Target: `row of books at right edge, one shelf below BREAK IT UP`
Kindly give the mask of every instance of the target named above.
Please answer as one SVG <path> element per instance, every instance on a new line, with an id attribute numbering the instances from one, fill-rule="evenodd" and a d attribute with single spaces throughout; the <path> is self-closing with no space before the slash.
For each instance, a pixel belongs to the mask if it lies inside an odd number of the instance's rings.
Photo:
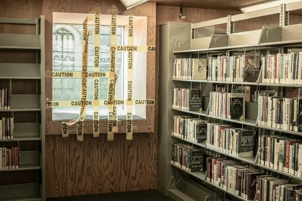
<path id="1" fill-rule="evenodd" d="M 279 135 L 263 135 L 258 140 L 258 163 L 302 177 L 302 140 Z"/>

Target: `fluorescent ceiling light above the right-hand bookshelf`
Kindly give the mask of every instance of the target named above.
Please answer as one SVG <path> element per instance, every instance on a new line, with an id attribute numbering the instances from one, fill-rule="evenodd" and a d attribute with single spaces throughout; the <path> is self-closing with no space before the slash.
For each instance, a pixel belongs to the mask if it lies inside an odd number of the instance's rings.
<path id="1" fill-rule="evenodd" d="M 302 0 L 271 0 L 263 3 L 257 3 L 257 4 L 252 4 L 252 5 L 247 5 L 240 7 L 239 9 L 243 13 L 248 13 L 252 11 L 259 11 L 265 8 L 273 8 L 276 6 L 280 6 L 280 4 L 290 4 L 294 2 L 301 2 Z"/>

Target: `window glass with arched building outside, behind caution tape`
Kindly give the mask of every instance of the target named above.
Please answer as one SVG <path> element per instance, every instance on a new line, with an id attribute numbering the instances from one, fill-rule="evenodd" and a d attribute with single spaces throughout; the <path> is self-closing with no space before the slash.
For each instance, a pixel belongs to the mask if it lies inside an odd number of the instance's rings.
<path id="1" fill-rule="evenodd" d="M 89 25 L 89 30 L 94 26 Z M 117 28 L 117 45 L 124 45 L 124 26 Z M 89 37 L 88 71 L 93 71 L 94 35 Z M 100 71 L 109 71 L 110 26 L 101 26 Z M 116 54 L 117 99 L 124 97 L 124 53 Z M 53 25 L 53 71 L 81 71 L 82 69 L 82 25 Z M 88 99 L 93 99 L 93 78 L 88 78 Z M 80 100 L 80 78 L 53 79 L 53 100 Z M 100 78 L 100 99 L 107 99 L 108 78 Z M 79 114 L 79 107 L 53 108 L 53 120 L 73 119 L 70 113 Z M 86 119 L 92 119 L 93 107 L 87 108 Z M 118 114 L 125 115 L 126 107 L 118 106 Z M 100 106 L 100 115 L 107 116 L 106 106 Z M 77 118 L 77 117 L 76 117 Z"/>

